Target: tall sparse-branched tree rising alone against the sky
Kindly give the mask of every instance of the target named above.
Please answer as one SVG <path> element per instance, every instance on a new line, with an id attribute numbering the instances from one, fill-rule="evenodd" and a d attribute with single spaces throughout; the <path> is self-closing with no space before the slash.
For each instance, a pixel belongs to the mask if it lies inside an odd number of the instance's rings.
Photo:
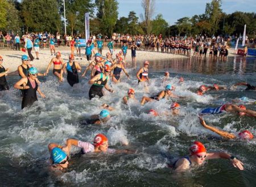
<path id="1" fill-rule="evenodd" d="M 150 35 L 152 29 L 151 19 L 155 11 L 155 0 L 142 0 L 141 5 L 144 10 L 144 14 L 141 14 L 141 18 L 145 23 L 147 35 Z"/>

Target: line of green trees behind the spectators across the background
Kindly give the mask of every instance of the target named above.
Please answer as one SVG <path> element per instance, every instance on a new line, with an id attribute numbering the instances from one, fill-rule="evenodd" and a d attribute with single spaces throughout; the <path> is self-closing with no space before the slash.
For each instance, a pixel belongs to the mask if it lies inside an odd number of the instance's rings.
<path id="1" fill-rule="evenodd" d="M 51 32 L 64 33 L 63 0 L 1 0 L 0 30 L 3 32 Z M 255 12 L 226 14 L 220 0 L 206 3 L 204 14 L 184 17 L 169 25 L 162 14 L 154 18 L 154 0 L 142 0 L 144 14 L 141 21 L 134 11 L 118 18 L 117 0 L 65 0 L 67 33 L 84 35 L 84 14 L 90 13 L 90 32 L 111 36 L 113 32 L 131 35 L 195 36 L 237 35 L 247 25 L 247 35 L 255 37 Z"/>

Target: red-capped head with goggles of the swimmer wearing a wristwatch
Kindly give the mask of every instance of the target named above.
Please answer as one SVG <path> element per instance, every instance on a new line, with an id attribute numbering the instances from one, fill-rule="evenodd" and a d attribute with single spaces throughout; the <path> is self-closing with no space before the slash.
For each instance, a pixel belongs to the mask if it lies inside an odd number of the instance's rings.
<path id="1" fill-rule="evenodd" d="M 193 142 L 193 145 L 189 148 L 191 154 L 191 159 L 197 164 L 203 164 L 206 156 L 207 150 L 201 142 Z"/>

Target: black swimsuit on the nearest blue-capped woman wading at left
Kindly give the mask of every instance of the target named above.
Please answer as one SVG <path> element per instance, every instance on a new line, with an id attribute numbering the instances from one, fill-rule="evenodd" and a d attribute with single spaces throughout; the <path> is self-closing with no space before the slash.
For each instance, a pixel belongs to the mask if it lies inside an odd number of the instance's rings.
<path id="1" fill-rule="evenodd" d="M 23 90 L 24 95 L 22 98 L 22 109 L 24 107 L 31 106 L 35 101 L 38 100 L 38 97 L 36 96 L 36 91 L 38 90 L 38 83 L 36 83 L 36 81 L 35 81 L 35 88 L 33 88 L 30 83 L 30 79 L 28 79 L 26 86 L 29 86 L 30 88 Z"/>

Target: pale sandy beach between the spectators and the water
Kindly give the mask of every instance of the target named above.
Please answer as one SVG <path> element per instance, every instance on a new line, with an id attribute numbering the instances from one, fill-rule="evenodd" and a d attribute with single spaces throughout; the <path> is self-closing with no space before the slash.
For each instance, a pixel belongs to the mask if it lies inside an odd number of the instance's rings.
<path id="1" fill-rule="evenodd" d="M 113 57 L 116 53 L 119 52 L 119 50 L 121 49 L 115 49 Z M 68 56 L 69 54 L 71 54 L 71 50 L 68 47 L 59 47 L 56 48 L 56 52 L 59 51 L 61 53 L 61 57 L 64 59 L 65 62 L 68 61 Z M 97 51 L 96 51 L 97 52 Z M 102 54 L 106 54 L 107 52 L 109 52 L 108 49 L 104 49 L 102 51 Z M 85 53 L 85 49 L 83 48 L 81 50 L 81 54 Z M 17 50 L 6 50 L 6 49 L 2 49 L 0 50 L 0 55 L 3 57 L 3 66 L 5 68 L 9 68 L 10 72 L 17 70 L 17 67 L 21 64 L 21 56 L 23 54 L 26 54 L 25 52 L 22 51 L 17 51 Z M 33 56 L 35 57 L 35 51 L 32 51 Z M 76 54 L 76 51 L 75 51 Z M 193 54 L 193 52 L 191 52 L 191 54 Z M 209 55 L 209 52 L 208 52 Z M 229 57 L 233 57 L 233 56 L 237 56 L 237 54 L 234 54 L 234 49 L 229 49 Z M 40 72 L 44 72 L 48 66 L 48 63 L 51 61 L 51 59 L 54 56 L 51 56 L 51 52 L 49 49 L 40 49 L 39 51 L 39 59 L 34 59 L 34 61 L 32 61 L 32 65 L 37 67 L 39 69 Z M 84 55 L 82 55 L 82 59 L 80 59 L 80 57 L 75 57 L 76 58 L 76 62 L 79 62 L 80 65 L 82 67 L 84 66 L 88 66 L 88 61 L 86 60 L 86 57 L 84 57 Z M 127 56 L 126 56 L 126 61 L 128 63 L 131 63 L 131 51 L 130 49 L 127 50 Z M 188 56 L 184 56 L 184 55 L 176 55 L 176 54 L 171 54 L 171 53 L 160 53 L 160 52 L 148 52 L 148 51 L 142 51 L 142 50 L 137 50 L 137 62 L 142 62 L 145 60 L 148 61 L 154 61 L 154 60 L 166 60 L 166 59 L 172 59 L 172 58 L 189 58 Z M 53 66 L 51 67 L 51 69 L 53 68 Z"/>

